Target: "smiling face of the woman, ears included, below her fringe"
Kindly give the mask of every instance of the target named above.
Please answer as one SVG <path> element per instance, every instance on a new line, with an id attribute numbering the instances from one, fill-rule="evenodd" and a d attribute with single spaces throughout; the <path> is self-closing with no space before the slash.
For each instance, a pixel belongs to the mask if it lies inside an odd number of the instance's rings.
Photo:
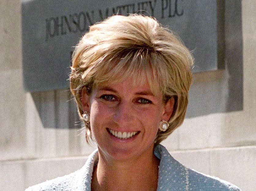
<path id="1" fill-rule="evenodd" d="M 163 103 L 148 83 L 133 86 L 132 79 L 98 86 L 90 96 L 82 91 L 84 111 L 90 112 L 92 134 L 108 159 L 127 160 L 152 155 L 162 119 L 168 121 L 173 103 Z"/>

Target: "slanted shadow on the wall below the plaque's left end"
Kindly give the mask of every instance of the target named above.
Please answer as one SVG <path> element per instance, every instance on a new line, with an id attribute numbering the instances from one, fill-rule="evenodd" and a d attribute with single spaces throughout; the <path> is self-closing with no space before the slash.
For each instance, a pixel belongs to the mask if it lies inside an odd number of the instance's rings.
<path id="1" fill-rule="evenodd" d="M 77 107 L 70 90 L 31 93 L 45 128 L 81 128 Z"/>

